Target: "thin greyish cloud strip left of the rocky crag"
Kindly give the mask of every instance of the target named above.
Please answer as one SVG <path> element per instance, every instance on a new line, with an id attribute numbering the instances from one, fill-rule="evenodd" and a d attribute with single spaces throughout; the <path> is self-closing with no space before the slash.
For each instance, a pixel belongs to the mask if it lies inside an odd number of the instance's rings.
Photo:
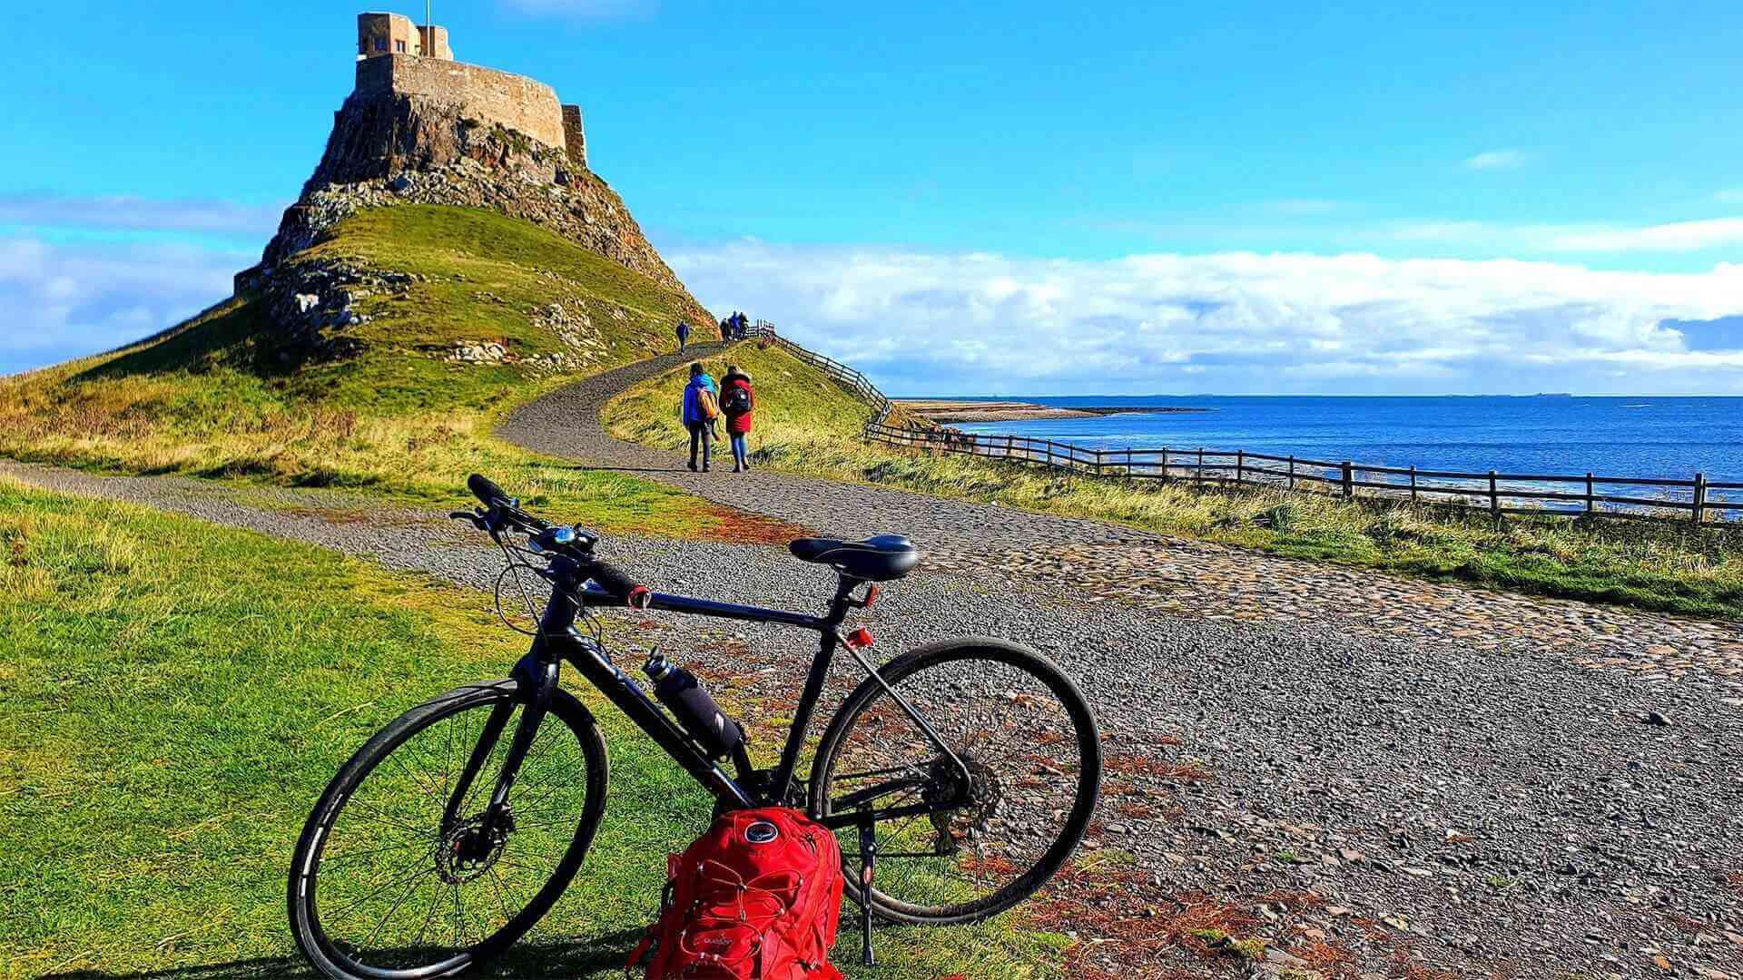
<path id="1" fill-rule="evenodd" d="M 0 195 L 0 225 L 143 232 L 216 232 L 267 237 L 282 204 L 155 201 L 148 197 Z"/>

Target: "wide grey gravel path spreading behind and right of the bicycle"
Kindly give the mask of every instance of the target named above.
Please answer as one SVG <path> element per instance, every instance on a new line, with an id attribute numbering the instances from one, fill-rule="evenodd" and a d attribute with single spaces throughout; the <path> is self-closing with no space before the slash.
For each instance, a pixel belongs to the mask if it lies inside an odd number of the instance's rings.
<path id="1" fill-rule="evenodd" d="M 537 403 L 509 434 L 594 464 L 664 471 L 655 476 L 810 527 L 898 528 L 953 556 L 957 570 L 922 565 L 870 610 L 877 649 L 889 656 L 943 635 L 997 635 L 1039 647 L 1081 680 L 1110 753 L 1088 847 L 1136 856 L 1136 888 L 1121 895 L 1142 909 L 1133 915 L 1156 915 L 1161 929 L 1171 910 L 1213 903 L 1251 921 L 1243 936 L 1351 977 L 1743 975 L 1736 678 L 1689 670 L 1672 684 L 1591 670 L 1530 643 L 1502 650 L 1448 635 L 1387 635 L 1360 609 L 1218 621 L 1129 605 L 1096 588 L 1049 595 L 1041 588 L 1055 579 L 1039 572 L 960 563 L 966 555 L 981 561 L 988 549 L 971 546 L 1006 534 L 976 523 L 987 507 L 765 473 L 692 478 L 671 471 L 669 453 L 589 443 L 596 415 L 577 413 L 661 366 L 636 364 Z M 573 441 L 551 438 L 554 427 Z M 354 520 L 364 502 L 343 495 L 3 462 L 0 473 L 478 588 L 500 567 L 476 532 L 439 514 Z M 1020 527 L 1011 534 L 1035 535 L 1021 541 L 1053 532 L 1063 537 L 1048 541 L 1068 541 L 1063 527 L 1088 523 L 1000 516 Z M 1128 530 L 1091 527 L 1131 541 Z M 1159 544 L 1168 542 L 1143 546 Z M 819 609 L 830 589 L 826 572 L 777 548 L 621 535 L 605 549 L 673 591 Z M 1021 551 L 1007 544 L 1004 555 Z M 762 626 L 675 626 L 638 642 L 688 650 L 734 703 L 791 696 L 797 664 L 810 654 L 804 636 Z M 852 677 L 842 668 L 837 680 L 840 691 Z M 767 738 L 758 745 L 770 748 Z M 1095 945 L 1089 959 L 1126 963 L 1129 977 L 1300 966 L 1196 959 L 1194 942 L 1175 940 L 1161 952 L 1145 947 L 1138 968 L 1129 966 L 1135 940 Z"/>

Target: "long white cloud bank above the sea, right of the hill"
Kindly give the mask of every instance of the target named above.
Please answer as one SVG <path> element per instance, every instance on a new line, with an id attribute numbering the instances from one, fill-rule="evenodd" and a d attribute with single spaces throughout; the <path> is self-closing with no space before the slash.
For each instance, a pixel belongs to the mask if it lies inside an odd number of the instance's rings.
<path id="1" fill-rule="evenodd" d="M 1743 391 L 1743 350 L 1691 350 L 1663 324 L 1743 312 L 1736 263 L 1075 262 L 760 242 L 668 258 L 704 302 L 769 317 L 899 392 Z M 1605 373 L 1618 364 L 1633 371 Z"/>

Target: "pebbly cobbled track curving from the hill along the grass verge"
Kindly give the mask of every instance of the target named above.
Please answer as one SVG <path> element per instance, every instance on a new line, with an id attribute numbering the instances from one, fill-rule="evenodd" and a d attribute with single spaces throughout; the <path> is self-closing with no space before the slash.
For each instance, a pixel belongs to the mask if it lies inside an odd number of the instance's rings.
<path id="1" fill-rule="evenodd" d="M 690 473 L 680 453 L 624 443 L 605 431 L 600 412 L 607 401 L 688 359 L 694 354 L 668 354 L 587 378 L 525 406 L 500 434 L 587 466 L 640 471 L 699 497 L 824 534 L 901 532 L 939 570 L 997 572 L 1035 588 L 1187 617 L 1337 616 L 1370 636 L 1455 642 L 1480 650 L 1556 650 L 1645 680 L 1708 671 L 1734 682 L 1743 698 L 1743 624 L 1424 582 L 887 487 L 765 471 L 736 474 L 730 466 Z"/>

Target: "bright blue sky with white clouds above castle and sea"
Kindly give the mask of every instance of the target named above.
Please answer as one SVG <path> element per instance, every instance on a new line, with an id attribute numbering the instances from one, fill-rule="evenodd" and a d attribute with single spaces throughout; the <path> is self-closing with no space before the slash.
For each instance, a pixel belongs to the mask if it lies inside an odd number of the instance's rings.
<path id="1" fill-rule="evenodd" d="M 582 105 L 704 303 L 894 391 L 1743 394 L 1743 7 L 1312 7 L 436 21 Z M 0 371 L 223 296 L 357 10 L 0 3 Z"/>

